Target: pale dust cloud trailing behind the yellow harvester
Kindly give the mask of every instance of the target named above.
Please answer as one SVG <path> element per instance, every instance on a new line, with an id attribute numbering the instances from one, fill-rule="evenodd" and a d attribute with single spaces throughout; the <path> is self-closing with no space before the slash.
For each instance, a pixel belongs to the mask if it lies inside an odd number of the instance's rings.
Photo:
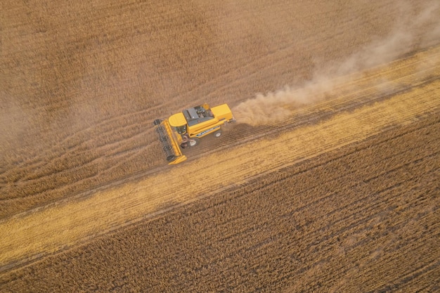
<path id="1" fill-rule="evenodd" d="M 252 126 L 283 121 L 291 115 L 287 108 L 297 108 L 323 100 L 326 93 L 335 88 L 336 77 L 344 77 L 345 82 L 349 82 L 350 73 L 361 72 L 388 63 L 406 53 L 438 44 L 440 2 L 427 2 L 420 13 L 414 13 L 414 9 L 402 1 L 396 7 L 398 20 L 388 37 L 372 41 L 342 63 L 316 68 L 309 82 L 299 86 L 285 86 L 284 89 L 266 94 L 259 93 L 255 98 L 240 103 L 233 108 L 235 119 L 238 123 Z M 338 82 L 341 80 L 339 78 Z"/>

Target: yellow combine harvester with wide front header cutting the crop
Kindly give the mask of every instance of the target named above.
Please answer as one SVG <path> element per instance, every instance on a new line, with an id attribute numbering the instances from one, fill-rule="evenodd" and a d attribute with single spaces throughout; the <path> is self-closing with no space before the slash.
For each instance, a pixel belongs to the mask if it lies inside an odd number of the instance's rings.
<path id="1" fill-rule="evenodd" d="M 183 110 L 168 119 L 156 119 L 153 124 L 168 164 L 179 164 L 186 160 L 181 149 L 198 145 L 199 138 L 208 134 L 221 136 L 221 126 L 234 121 L 228 105 L 210 108 L 208 104 L 203 104 Z"/>

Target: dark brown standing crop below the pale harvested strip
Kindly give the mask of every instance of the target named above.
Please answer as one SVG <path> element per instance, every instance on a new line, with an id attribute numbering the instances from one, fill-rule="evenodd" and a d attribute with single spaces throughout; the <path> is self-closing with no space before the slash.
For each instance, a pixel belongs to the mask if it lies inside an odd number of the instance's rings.
<path id="1" fill-rule="evenodd" d="M 280 169 L 5 273 L 0 288 L 432 292 L 439 124 L 430 117 Z"/>

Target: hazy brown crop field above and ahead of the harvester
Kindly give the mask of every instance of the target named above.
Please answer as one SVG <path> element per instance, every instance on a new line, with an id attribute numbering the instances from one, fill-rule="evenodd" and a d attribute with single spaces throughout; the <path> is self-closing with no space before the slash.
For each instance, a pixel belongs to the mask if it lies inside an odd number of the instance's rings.
<path id="1" fill-rule="evenodd" d="M 398 3 L 6 1 L 0 219 L 160 166 L 153 119 L 302 84 Z"/>

